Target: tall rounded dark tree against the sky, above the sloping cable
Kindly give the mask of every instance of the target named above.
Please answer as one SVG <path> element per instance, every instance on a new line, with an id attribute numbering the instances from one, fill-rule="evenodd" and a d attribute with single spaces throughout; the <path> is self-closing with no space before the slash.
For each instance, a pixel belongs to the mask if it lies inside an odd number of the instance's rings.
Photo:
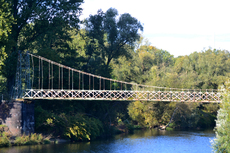
<path id="1" fill-rule="evenodd" d="M 117 10 L 110 8 L 105 13 L 99 10 L 85 21 L 87 36 L 91 39 L 88 58 L 99 55 L 106 71 L 112 59 L 128 56 L 127 46 L 134 47 L 135 41 L 140 38 L 138 32 L 143 31 L 141 23 L 130 14 L 117 17 Z"/>

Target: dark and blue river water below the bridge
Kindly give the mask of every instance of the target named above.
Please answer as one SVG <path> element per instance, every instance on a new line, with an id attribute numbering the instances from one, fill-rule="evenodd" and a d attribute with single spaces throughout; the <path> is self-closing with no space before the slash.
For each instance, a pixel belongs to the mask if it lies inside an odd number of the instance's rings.
<path id="1" fill-rule="evenodd" d="M 137 130 L 106 140 L 1 148 L 1 153 L 210 153 L 213 130 Z"/>

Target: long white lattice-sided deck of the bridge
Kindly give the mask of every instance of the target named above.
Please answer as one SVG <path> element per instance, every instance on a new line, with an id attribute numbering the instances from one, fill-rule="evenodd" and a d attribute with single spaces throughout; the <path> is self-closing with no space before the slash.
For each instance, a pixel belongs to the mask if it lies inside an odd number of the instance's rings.
<path id="1" fill-rule="evenodd" d="M 23 99 L 221 102 L 219 92 L 31 89 Z"/>

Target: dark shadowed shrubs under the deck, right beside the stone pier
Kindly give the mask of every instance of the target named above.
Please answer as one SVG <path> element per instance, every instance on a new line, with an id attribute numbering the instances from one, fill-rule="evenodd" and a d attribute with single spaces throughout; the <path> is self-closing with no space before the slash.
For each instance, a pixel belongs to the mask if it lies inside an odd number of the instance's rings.
<path id="1" fill-rule="evenodd" d="M 71 141 L 89 141 L 117 133 L 117 118 L 128 125 L 127 105 L 117 101 L 35 102 L 35 131 Z"/>

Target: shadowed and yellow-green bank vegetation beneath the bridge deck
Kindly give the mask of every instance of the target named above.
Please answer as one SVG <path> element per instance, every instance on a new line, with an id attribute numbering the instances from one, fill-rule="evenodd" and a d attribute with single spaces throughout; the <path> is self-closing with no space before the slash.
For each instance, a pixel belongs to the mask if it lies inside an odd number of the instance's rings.
<path id="1" fill-rule="evenodd" d="M 6 136 L 2 142 L 3 146 L 43 144 L 47 138 L 44 136 L 48 135 L 53 143 L 58 140 L 89 142 L 133 133 L 135 129 L 206 129 L 215 126 L 217 109 L 218 104 L 200 103 L 38 100 L 35 132 L 43 135 L 43 141 L 30 141 L 30 137 L 24 136 L 17 138 L 21 143 L 9 144 L 16 139 Z"/>

